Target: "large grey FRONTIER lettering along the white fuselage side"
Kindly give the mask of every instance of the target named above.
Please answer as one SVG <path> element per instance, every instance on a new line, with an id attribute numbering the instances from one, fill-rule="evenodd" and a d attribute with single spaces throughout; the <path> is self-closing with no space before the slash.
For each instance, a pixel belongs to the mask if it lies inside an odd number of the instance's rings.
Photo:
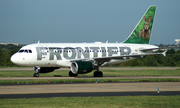
<path id="1" fill-rule="evenodd" d="M 49 60 L 62 60 L 62 57 L 70 59 L 81 59 L 92 57 L 111 57 L 113 55 L 129 55 L 131 53 L 130 47 L 36 47 L 37 60 L 42 60 L 49 55 Z"/>

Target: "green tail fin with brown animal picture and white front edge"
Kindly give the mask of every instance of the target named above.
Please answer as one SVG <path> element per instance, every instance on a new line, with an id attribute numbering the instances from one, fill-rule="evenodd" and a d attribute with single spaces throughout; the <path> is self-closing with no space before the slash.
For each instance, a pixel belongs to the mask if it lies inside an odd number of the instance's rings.
<path id="1" fill-rule="evenodd" d="M 149 44 L 156 6 L 150 6 L 123 43 Z"/>

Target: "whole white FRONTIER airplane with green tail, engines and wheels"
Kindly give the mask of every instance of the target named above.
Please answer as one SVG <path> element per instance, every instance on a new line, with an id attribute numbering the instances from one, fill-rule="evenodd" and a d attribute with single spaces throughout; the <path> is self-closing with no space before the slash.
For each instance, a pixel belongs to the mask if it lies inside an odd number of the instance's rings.
<path id="1" fill-rule="evenodd" d="M 126 62 L 157 53 L 158 46 L 150 45 L 156 6 L 149 6 L 129 37 L 121 43 L 34 43 L 12 55 L 17 65 L 34 67 L 34 77 L 62 67 L 70 68 L 69 76 L 96 70 L 94 77 L 103 77 L 100 66 Z"/>

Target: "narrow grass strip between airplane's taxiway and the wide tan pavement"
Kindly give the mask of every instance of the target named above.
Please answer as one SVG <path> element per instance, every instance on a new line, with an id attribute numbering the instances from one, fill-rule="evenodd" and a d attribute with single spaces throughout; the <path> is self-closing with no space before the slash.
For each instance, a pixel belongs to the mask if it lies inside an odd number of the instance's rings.
<path id="1" fill-rule="evenodd" d="M 55 83 L 95 83 L 96 79 L 58 79 L 58 80 L 1 80 L 0 84 L 55 84 Z M 180 79 L 97 79 L 97 83 L 118 82 L 180 82 Z"/>

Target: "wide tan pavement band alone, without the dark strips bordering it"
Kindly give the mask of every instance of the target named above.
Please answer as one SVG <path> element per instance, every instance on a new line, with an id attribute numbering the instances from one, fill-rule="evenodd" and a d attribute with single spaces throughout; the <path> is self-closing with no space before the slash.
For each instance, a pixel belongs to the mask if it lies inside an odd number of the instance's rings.
<path id="1" fill-rule="evenodd" d="M 180 82 L 83 83 L 0 86 L 0 94 L 180 91 Z"/>

